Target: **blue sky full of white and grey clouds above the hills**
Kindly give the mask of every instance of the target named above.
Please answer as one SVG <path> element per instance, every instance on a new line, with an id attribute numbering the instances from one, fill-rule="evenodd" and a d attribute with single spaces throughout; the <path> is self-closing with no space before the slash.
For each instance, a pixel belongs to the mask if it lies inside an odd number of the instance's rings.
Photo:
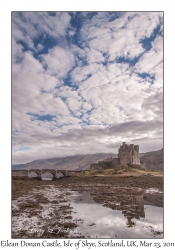
<path id="1" fill-rule="evenodd" d="M 163 12 L 12 12 L 12 163 L 163 147 Z"/>

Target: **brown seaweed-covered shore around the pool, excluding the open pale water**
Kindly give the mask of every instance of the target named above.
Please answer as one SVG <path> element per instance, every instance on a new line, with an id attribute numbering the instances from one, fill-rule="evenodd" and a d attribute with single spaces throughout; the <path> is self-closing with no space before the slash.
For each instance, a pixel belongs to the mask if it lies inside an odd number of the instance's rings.
<path id="1" fill-rule="evenodd" d="M 150 194 L 145 190 L 157 191 Z M 128 219 L 127 227 L 135 226 L 133 219 L 144 217 L 143 204 L 163 207 L 162 176 L 72 176 L 55 181 L 13 177 L 12 238 L 83 238 L 83 234 L 75 234 L 81 223 L 72 216 L 70 200 L 75 191 L 80 202 L 85 198 L 81 194 L 88 191 L 96 203 L 122 211 Z M 153 237 L 163 233 L 151 230 Z"/>

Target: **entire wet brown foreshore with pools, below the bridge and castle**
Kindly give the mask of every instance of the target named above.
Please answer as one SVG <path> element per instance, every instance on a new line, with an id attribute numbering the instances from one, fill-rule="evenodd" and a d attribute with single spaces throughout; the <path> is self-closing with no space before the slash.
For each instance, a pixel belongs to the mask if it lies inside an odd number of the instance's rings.
<path id="1" fill-rule="evenodd" d="M 163 177 L 12 179 L 12 238 L 163 238 Z"/>

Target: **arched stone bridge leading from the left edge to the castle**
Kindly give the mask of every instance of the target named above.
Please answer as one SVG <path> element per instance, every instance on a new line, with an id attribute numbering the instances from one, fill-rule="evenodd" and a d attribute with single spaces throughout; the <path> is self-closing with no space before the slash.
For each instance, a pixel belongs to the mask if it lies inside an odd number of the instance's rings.
<path id="1" fill-rule="evenodd" d="M 65 176 L 71 176 L 74 173 L 82 172 L 82 170 L 60 170 L 60 169 L 28 169 L 28 170 L 12 170 L 12 176 L 25 176 L 28 177 L 30 173 L 36 173 L 39 179 L 42 179 L 42 174 L 50 173 L 53 175 L 52 180 L 55 180 L 58 173 L 62 173 Z"/>

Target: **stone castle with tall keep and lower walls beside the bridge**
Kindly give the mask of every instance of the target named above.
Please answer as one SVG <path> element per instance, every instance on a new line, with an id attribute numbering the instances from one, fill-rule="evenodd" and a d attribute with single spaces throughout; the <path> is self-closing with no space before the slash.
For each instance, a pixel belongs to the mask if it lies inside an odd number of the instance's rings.
<path id="1" fill-rule="evenodd" d="M 134 144 L 126 144 L 120 146 L 118 150 L 118 158 L 107 158 L 98 163 L 90 164 L 91 170 L 103 170 L 105 168 L 114 168 L 115 170 L 121 169 L 122 167 L 133 167 L 142 169 L 142 163 L 140 162 L 139 146 Z"/>

